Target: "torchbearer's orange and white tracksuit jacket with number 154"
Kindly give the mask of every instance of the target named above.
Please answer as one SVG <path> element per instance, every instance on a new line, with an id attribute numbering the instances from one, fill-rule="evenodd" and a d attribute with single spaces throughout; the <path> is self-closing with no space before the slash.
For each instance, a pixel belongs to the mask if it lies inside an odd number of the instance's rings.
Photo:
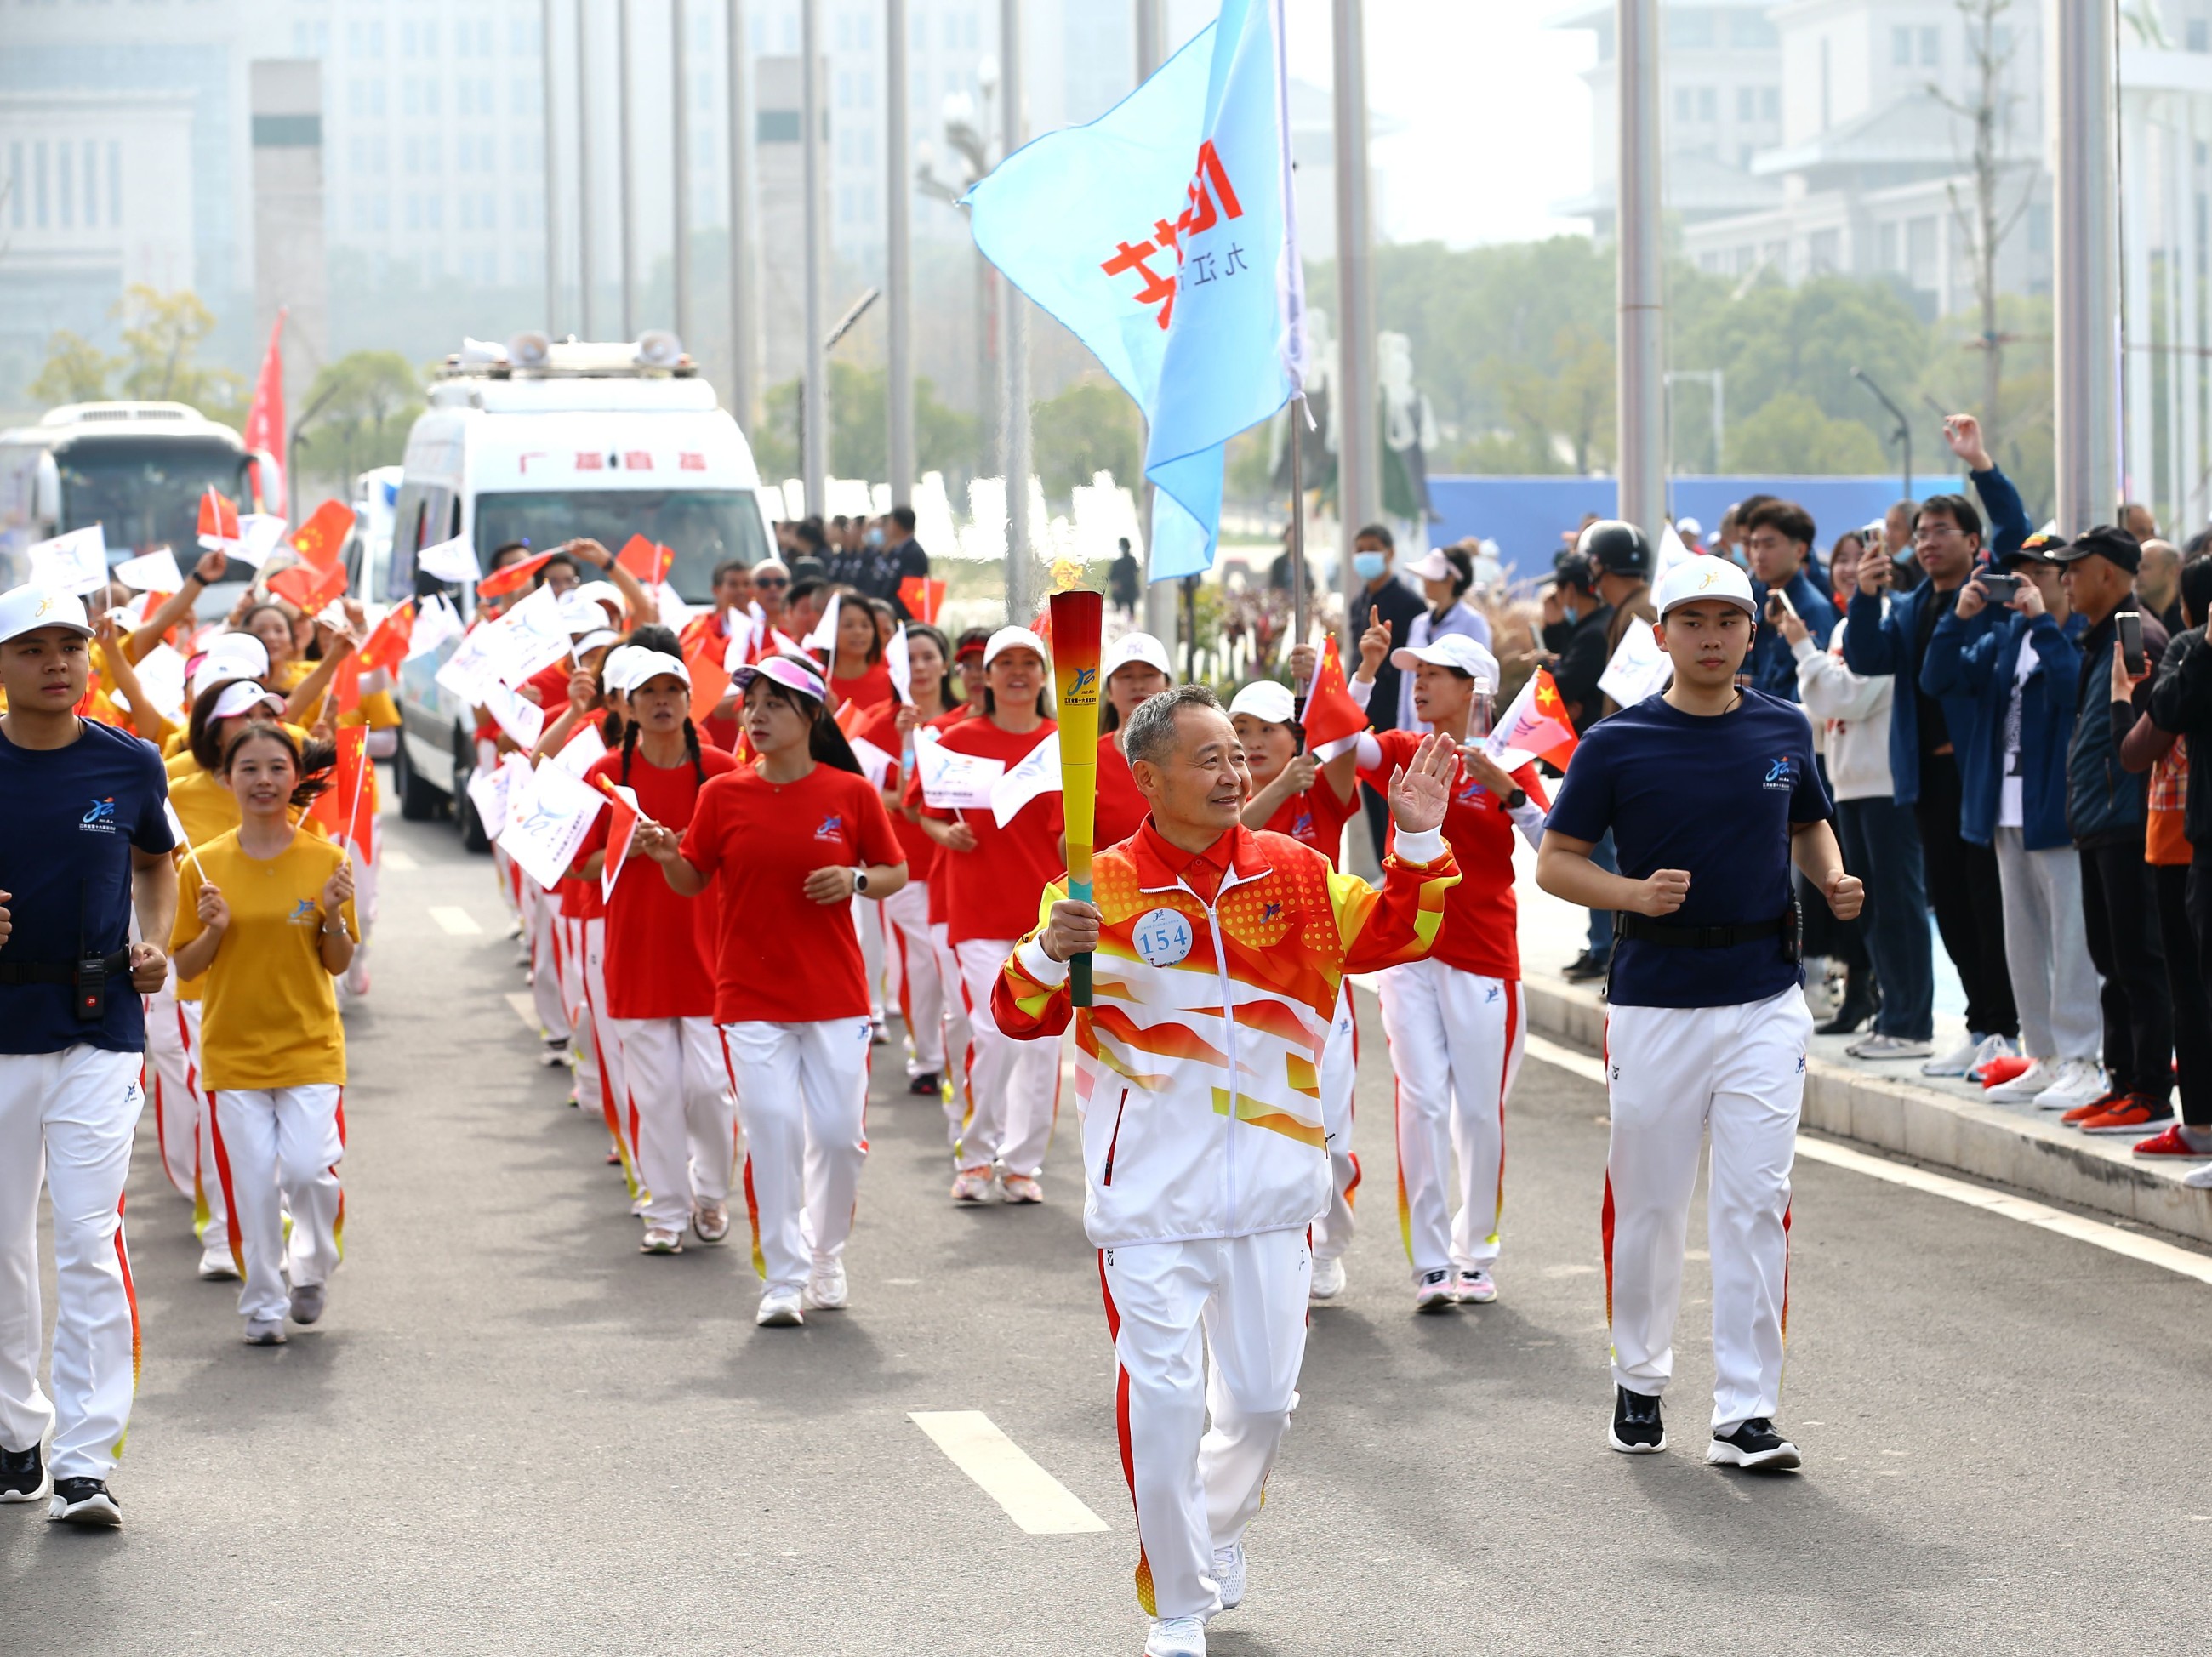
<path id="1" fill-rule="evenodd" d="M 1088 1009 L 1037 927 L 991 989 L 1000 1029 L 1057 1035 L 1075 1013 L 1084 1228 L 1097 1248 L 1305 1228 L 1327 1206 L 1321 1051 L 1349 971 L 1420 960 L 1460 878 L 1442 834 L 1398 838 L 1383 887 L 1287 834 L 1230 830 L 1208 905 L 1137 834 L 1097 854 L 1104 914 Z M 1433 852 L 1431 861 L 1409 861 Z"/>

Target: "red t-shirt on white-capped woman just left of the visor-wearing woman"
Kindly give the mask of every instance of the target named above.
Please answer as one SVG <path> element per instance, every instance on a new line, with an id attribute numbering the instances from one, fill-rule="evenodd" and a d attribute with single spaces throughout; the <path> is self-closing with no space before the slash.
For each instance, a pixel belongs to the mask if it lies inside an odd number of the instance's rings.
<path id="1" fill-rule="evenodd" d="M 737 770 L 719 748 L 701 746 L 699 761 L 708 781 Z M 593 761 L 584 779 L 593 777 L 622 783 L 622 750 Z M 628 788 L 646 816 L 672 830 L 692 821 L 701 794 L 690 759 L 664 770 L 648 765 L 644 754 L 630 754 Z M 611 819 L 599 812 L 577 863 L 606 850 Z M 719 931 L 717 918 L 712 887 L 686 898 L 668 885 L 659 863 L 626 858 L 606 905 L 606 1011 L 613 1018 L 708 1018 L 714 1011 L 708 942 Z"/>

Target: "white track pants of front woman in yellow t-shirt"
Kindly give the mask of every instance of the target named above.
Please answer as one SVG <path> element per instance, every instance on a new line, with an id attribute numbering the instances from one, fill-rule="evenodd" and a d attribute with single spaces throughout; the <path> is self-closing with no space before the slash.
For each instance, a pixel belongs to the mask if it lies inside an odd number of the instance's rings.
<path id="1" fill-rule="evenodd" d="M 345 1254 L 345 1088 L 221 1088 L 215 1106 L 215 1166 L 230 1199 L 230 1259 L 246 1279 L 239 1316 L 281 1319 L 292 1288 L 327 1283 Z M 283 1217 L 292 1215 L 285 1241 Z"/>

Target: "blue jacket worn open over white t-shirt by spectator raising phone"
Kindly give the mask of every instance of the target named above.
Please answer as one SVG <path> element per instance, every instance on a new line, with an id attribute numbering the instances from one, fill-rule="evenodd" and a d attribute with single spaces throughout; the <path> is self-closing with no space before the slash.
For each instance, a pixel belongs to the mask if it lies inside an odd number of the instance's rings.
<path id="1" fill-rule="evenodd" d="M 2004 626 L 1984 626 L 1969 642 L 1973 617 L 1947 615 L 1929 639 L 1920 664 L 1920 688 L 1931 697 L 1971 695 L 1978 701 L 1973 741 L 1958 743 L 1962 838 L 1989 845 L 1997 827 L 1997 796 L 2004 788 L 2004 708 L 2013 699 L 2013 670 L 2022 639 L 2042 661 L 2020 692 L 2020 834 L 2031 852 L 2073 845 L 2066 832 L 2066 746 L 2073 737 L 2075 692 L 2081 684 L 2081 637 L 2086 622 L 2068 615 L 2059 626 L 2048 615 L 2033 622 L 2006 613 Z"/>

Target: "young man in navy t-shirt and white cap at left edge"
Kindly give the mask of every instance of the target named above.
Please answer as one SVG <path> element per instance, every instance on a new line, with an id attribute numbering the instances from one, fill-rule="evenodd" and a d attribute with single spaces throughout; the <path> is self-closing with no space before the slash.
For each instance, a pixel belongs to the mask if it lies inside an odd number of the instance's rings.
<path id="1" fill-rule="evenodd" d="M 177 916 L 161 757 L 75 715 L 84 604 L 0 593 L 0 1502 L 122 1524 L 108 1493 L 137 1387 L 122 1199 L 146 1020 Z M 139 936 L 131 942 L 131 914 Z M 53 1403 L 38 1387 L 38 1188 L 53 1199 Z"/>

